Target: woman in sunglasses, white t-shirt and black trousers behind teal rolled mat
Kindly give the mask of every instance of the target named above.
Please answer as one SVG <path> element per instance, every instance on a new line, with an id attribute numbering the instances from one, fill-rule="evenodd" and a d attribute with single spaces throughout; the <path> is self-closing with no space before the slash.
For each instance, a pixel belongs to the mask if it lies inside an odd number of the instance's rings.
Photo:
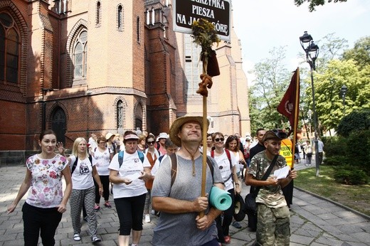
<path id="1" fill-rule="evenodd" d="M 226 191 L 230 193 L 231 199 L 235 200 L 235 194 L 240 193 L 240 184 L 238 182 L 238 175 L 236 174 L 236 159 L 228 149 L 223 148 L 223 141 L 225 138 L 221 132 L 216 132 L 212 135 L 213 146 L 215 149 L 211 151 L 211 156 L 218 164 L 221 171 L 223 183 L 225 184 Z M 234 183 L 236 184 L 234 187 Z M 232 204 L 233 204 L 232 203 Z M 229 235 L 229 227 L 233 220 L 234 208 L 230 206 L 227 210 L 223 211 L 223 220 L 221 215 L 216 218 L 216 226 L 218 231 L 218 242 L 230 243 L 231 237 Z"/>

